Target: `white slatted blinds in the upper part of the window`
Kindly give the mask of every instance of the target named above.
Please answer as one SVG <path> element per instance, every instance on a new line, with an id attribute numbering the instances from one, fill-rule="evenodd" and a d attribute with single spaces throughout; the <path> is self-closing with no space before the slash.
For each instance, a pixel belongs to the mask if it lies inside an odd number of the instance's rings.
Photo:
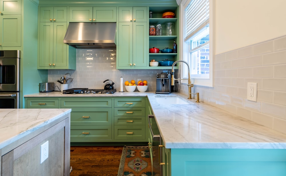
<path id="1" fill-rule="evenodd" d="M 185 9 L 186 34 L 189 39 L 194 33 L 205 27 L 210 18 L 209 0 L 192 0 Z"/>

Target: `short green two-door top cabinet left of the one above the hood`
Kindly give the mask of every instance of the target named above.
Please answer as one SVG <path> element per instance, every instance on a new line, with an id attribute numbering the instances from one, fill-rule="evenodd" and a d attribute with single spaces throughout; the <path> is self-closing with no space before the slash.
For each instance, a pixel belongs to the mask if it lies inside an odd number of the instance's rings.
<path id="1" fill-rule="evenodd" d="M 40 7 L 40 22 L 67 22 L 67 7 Z"/>

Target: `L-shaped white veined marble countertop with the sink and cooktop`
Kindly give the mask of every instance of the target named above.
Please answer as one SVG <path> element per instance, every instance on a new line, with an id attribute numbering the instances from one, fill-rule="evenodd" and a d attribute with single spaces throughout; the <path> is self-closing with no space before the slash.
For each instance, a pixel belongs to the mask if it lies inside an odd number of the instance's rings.
<path id="1" fill-rule="evenodd" d="M 286 134 L 258 125 L 186 95 L 154 92 L 116 92 L 112 95 L 35 93 L 24 97 L 147 96 L 166 148 L 286 149 Z M 186 104 L 160 103 L 156 97 L 177 96 Z"/>

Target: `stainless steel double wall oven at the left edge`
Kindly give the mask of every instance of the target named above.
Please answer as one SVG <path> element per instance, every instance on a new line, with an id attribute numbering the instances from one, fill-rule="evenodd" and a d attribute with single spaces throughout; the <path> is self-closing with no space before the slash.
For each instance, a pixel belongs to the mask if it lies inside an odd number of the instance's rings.
<path id="1" fill-rule="evenodd" d="M 19 108 L 19 50 L 0 50 L 0 108 Z"/>

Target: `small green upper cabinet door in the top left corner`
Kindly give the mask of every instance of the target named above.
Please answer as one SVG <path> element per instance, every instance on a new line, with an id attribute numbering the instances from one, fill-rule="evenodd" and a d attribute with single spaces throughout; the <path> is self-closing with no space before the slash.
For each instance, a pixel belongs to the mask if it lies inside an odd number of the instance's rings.
<path id="1" fill-rule="evenodd" d="M 21 15 L 21 0 L 0 0 L 1 15 Z"/>

